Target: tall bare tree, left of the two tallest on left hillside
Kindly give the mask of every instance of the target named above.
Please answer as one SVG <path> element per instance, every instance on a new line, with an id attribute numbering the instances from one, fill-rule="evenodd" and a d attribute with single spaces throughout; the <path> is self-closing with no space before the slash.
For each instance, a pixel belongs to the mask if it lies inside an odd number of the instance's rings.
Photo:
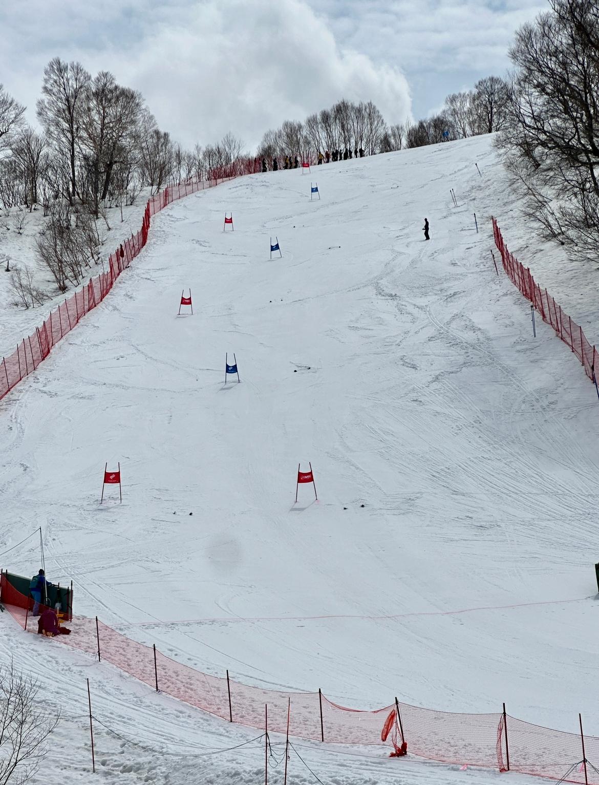
<path id="1" fill-rule="evenodd" d="M 39 122 L 58 155 L 68 162 L 71 204 L 77 195 L 76 152 L 89 80 L 89 73 L 81 63 L 67 64 L 54 57 L 44 69 L 44 97 L 37 104 Z"/>

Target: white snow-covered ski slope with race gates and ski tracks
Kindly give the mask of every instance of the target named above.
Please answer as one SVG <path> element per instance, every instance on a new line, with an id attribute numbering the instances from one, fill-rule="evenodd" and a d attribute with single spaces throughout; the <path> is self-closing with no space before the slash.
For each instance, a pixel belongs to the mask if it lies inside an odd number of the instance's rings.
<path id="1" fill-rule="evenodd" d="M 504 184 L 477 138 L 244 177 L 164 210 L 111 295 L 0 403 L 0 550 L 42 526 L 75 612 L 210 674 L 365 709 L 505 701 L 573 731 L 582 711 L 599 735 L 597 396 L 495 276 L 491 212 L 527 261 Z M 194 315 L 177 316 L 189 287 Z M 225 352 L 239 385 L 224 384 Z M 122 505 L 114 489 L 98 503 L 104 462 L 121 464 Z M 294 504 L 299 462 L 318 502 L 300 486 Z M 31 539 L 3 566 L 33 574 L 37 553 Z M 6 614 L 0 646 L 64 714 L 85 714 L 89 677 L 97 716 L 146 747 L 257 735 Z M 91 781 L 85 721 L 68 722 L 69 781 Z M 119 783 L 260 776 L 259 750 L 200 766 L 101 734 Z M 493 776 L 305 747 L 333 781 Z M 54 749 L 41 779 L 63 781 L 62 765 Z"/>

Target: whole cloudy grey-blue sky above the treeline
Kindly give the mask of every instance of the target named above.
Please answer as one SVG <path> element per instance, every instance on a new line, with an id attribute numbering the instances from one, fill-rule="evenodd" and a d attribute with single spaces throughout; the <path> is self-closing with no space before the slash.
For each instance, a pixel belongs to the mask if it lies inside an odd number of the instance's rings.
<path id="1" fill-rule="evenodd" d="M 140 89 L 191 146 L 262 133 L 345 97 L 388 122 L 509 66 L 513 32 L 546 0 L 0 0 L 0 82 L 35 122 L 52 57 Z"/>

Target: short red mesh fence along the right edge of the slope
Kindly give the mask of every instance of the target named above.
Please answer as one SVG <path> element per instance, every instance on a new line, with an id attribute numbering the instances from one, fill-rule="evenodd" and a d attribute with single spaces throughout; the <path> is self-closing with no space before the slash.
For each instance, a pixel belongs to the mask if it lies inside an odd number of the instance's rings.
<path id="1" fill-rule="evenodd" d="M 586 375 L 591 380 L 594 380 L 597 350 L 586 340 L 583 328 L 573 322 L 568 314 L 562 311 L 561 307 L 557 305 L 557 302 L 548 294 L 546 289 L 542 289 L 538 283 L 535 283 L 535 279 L 531 276 L 530 268 L 525 268 L 513 254 L 510 254 L 506 244 L 503 242 L 497 221 L 495 218 L 491 218 L 491 221 L 493 221 L 495 245 L 502 257 L 503 269 L 512 280 L 512 283 L 517 286 L 527 300 L 531 301 L 535 309 L 541 314 L 543 321 L 550 324 L 553 330 L 555 330 L 555 334 L 572 349 L 572 352 L 575 353 L 582 363 Z"/>

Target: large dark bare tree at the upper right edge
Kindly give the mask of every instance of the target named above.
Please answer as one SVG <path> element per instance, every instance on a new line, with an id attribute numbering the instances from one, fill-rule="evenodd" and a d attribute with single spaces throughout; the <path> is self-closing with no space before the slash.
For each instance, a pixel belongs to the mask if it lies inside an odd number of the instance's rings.
<path id="1" fill-rule="evenodd" d="M 510 115 L 499 144 L 527 210 L 572 254 L 599 257 L 599 8 L 551 0 L 517 32 Z"/>

